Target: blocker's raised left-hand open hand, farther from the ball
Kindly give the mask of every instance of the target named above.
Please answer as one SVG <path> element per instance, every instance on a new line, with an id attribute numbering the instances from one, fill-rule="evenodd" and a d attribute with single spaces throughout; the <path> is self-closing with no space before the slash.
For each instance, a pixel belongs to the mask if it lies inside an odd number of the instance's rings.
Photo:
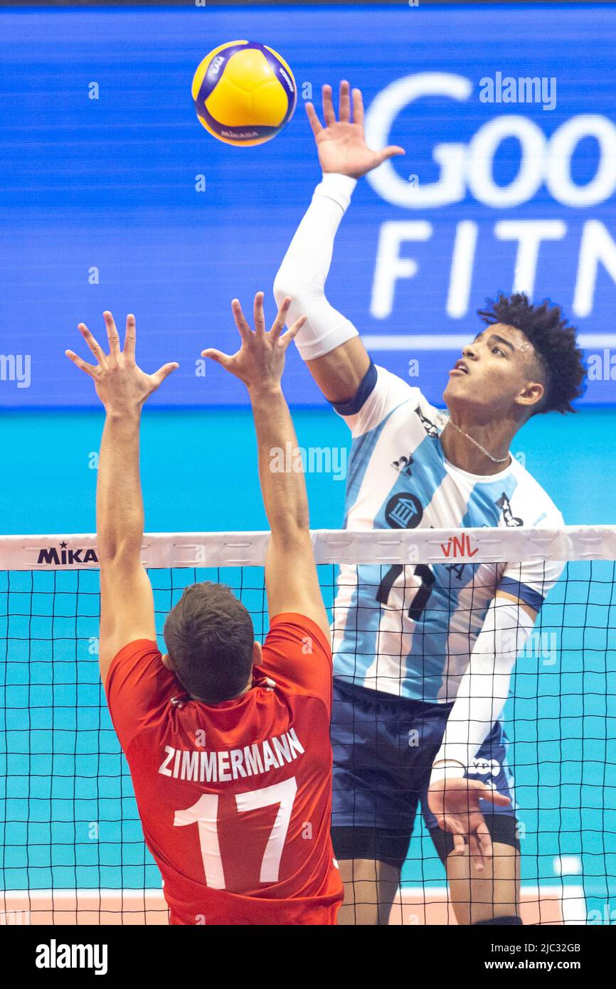
<path id="1" fill-rule="evenodd" d="M 179 367 L 179 364 L 175 362 L 163 364 L 154 374 L 146 374 L 141 371 L 134 360 L 136 339 L 134 316 L 132 314 L 127 316 L 124 350 L 120 348 L 120 334 L 113 315 L 106 312 L 103 313 L 103 317 L 109 340 L 108 354 L 105 353 L 84 322 L 80 322 L 77 326 L 98 364 L 88 364 L 72 350 L 65 350 L 64 353 L 73 364 L 76 364 L 78 368 L 81 368 L 92 378 L 96 394 L 108 411 L 110 409 L 122 412 L 132 411 L 143 405 L 152 392 L 155 392 L 162 385 L 165 378 L 168 378 L 171 372 Z"/>

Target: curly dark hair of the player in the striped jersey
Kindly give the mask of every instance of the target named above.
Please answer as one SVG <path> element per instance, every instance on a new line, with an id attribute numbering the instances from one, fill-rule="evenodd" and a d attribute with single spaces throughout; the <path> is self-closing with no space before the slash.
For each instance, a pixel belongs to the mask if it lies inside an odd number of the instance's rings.
<path id="1" fill-rule="evenodd" d="M 533 306 L 523 292 L 512 296 L 500 293 L 495 301 L 486 299 L 485 304 L 486 309 L 478 310 L 485 323 L 515 326 L 535 348 L 544 372 L 546 394 L 533 414 L 574 412 L 572 402 L 584 393 L 586 368 L 575 340 L 577 330 L 563 317 L 561 308 L 552 306 L 547 299 Z"/>

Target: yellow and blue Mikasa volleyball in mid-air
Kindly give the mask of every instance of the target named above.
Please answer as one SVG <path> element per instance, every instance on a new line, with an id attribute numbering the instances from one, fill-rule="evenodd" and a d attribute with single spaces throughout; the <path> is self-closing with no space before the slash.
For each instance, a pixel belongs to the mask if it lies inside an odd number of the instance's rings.
<path id="1" fill-rule="evenodd" d="M 293 117 L 298 91 L 282 55 L 258 42 L 227 42 L 200 62 L 193 101 L 209 134 L 239 147 L 264 144 Z"/>

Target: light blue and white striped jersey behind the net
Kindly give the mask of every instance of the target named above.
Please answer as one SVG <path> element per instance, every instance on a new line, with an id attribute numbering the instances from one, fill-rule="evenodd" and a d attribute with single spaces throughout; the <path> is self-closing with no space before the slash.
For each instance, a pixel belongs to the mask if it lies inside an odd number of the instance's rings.
<path id="1" fill-rule="evenodd" d="M 372 365 L 355 399 L 334 405 L 351 428 L 344 527 L 541 526 L 561 512 L 518 461 L 469 474 L 445 460 L 447 413 Z M 539 611 L 557 562 L 343 565 L 333 612 L 334 676 L 414 700 L 448 703 L 497 588 Z"/>

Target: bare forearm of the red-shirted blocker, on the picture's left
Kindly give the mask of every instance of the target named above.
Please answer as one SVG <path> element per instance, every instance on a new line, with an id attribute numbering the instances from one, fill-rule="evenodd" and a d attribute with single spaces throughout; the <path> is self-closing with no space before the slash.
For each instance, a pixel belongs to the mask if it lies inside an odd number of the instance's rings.
<path id="1" fill-rule="evenodd" d="M 107 412 L 96 489 L 99 561 L 140 551 L 143 499 L 139 477 L 140 409 Z"/>

